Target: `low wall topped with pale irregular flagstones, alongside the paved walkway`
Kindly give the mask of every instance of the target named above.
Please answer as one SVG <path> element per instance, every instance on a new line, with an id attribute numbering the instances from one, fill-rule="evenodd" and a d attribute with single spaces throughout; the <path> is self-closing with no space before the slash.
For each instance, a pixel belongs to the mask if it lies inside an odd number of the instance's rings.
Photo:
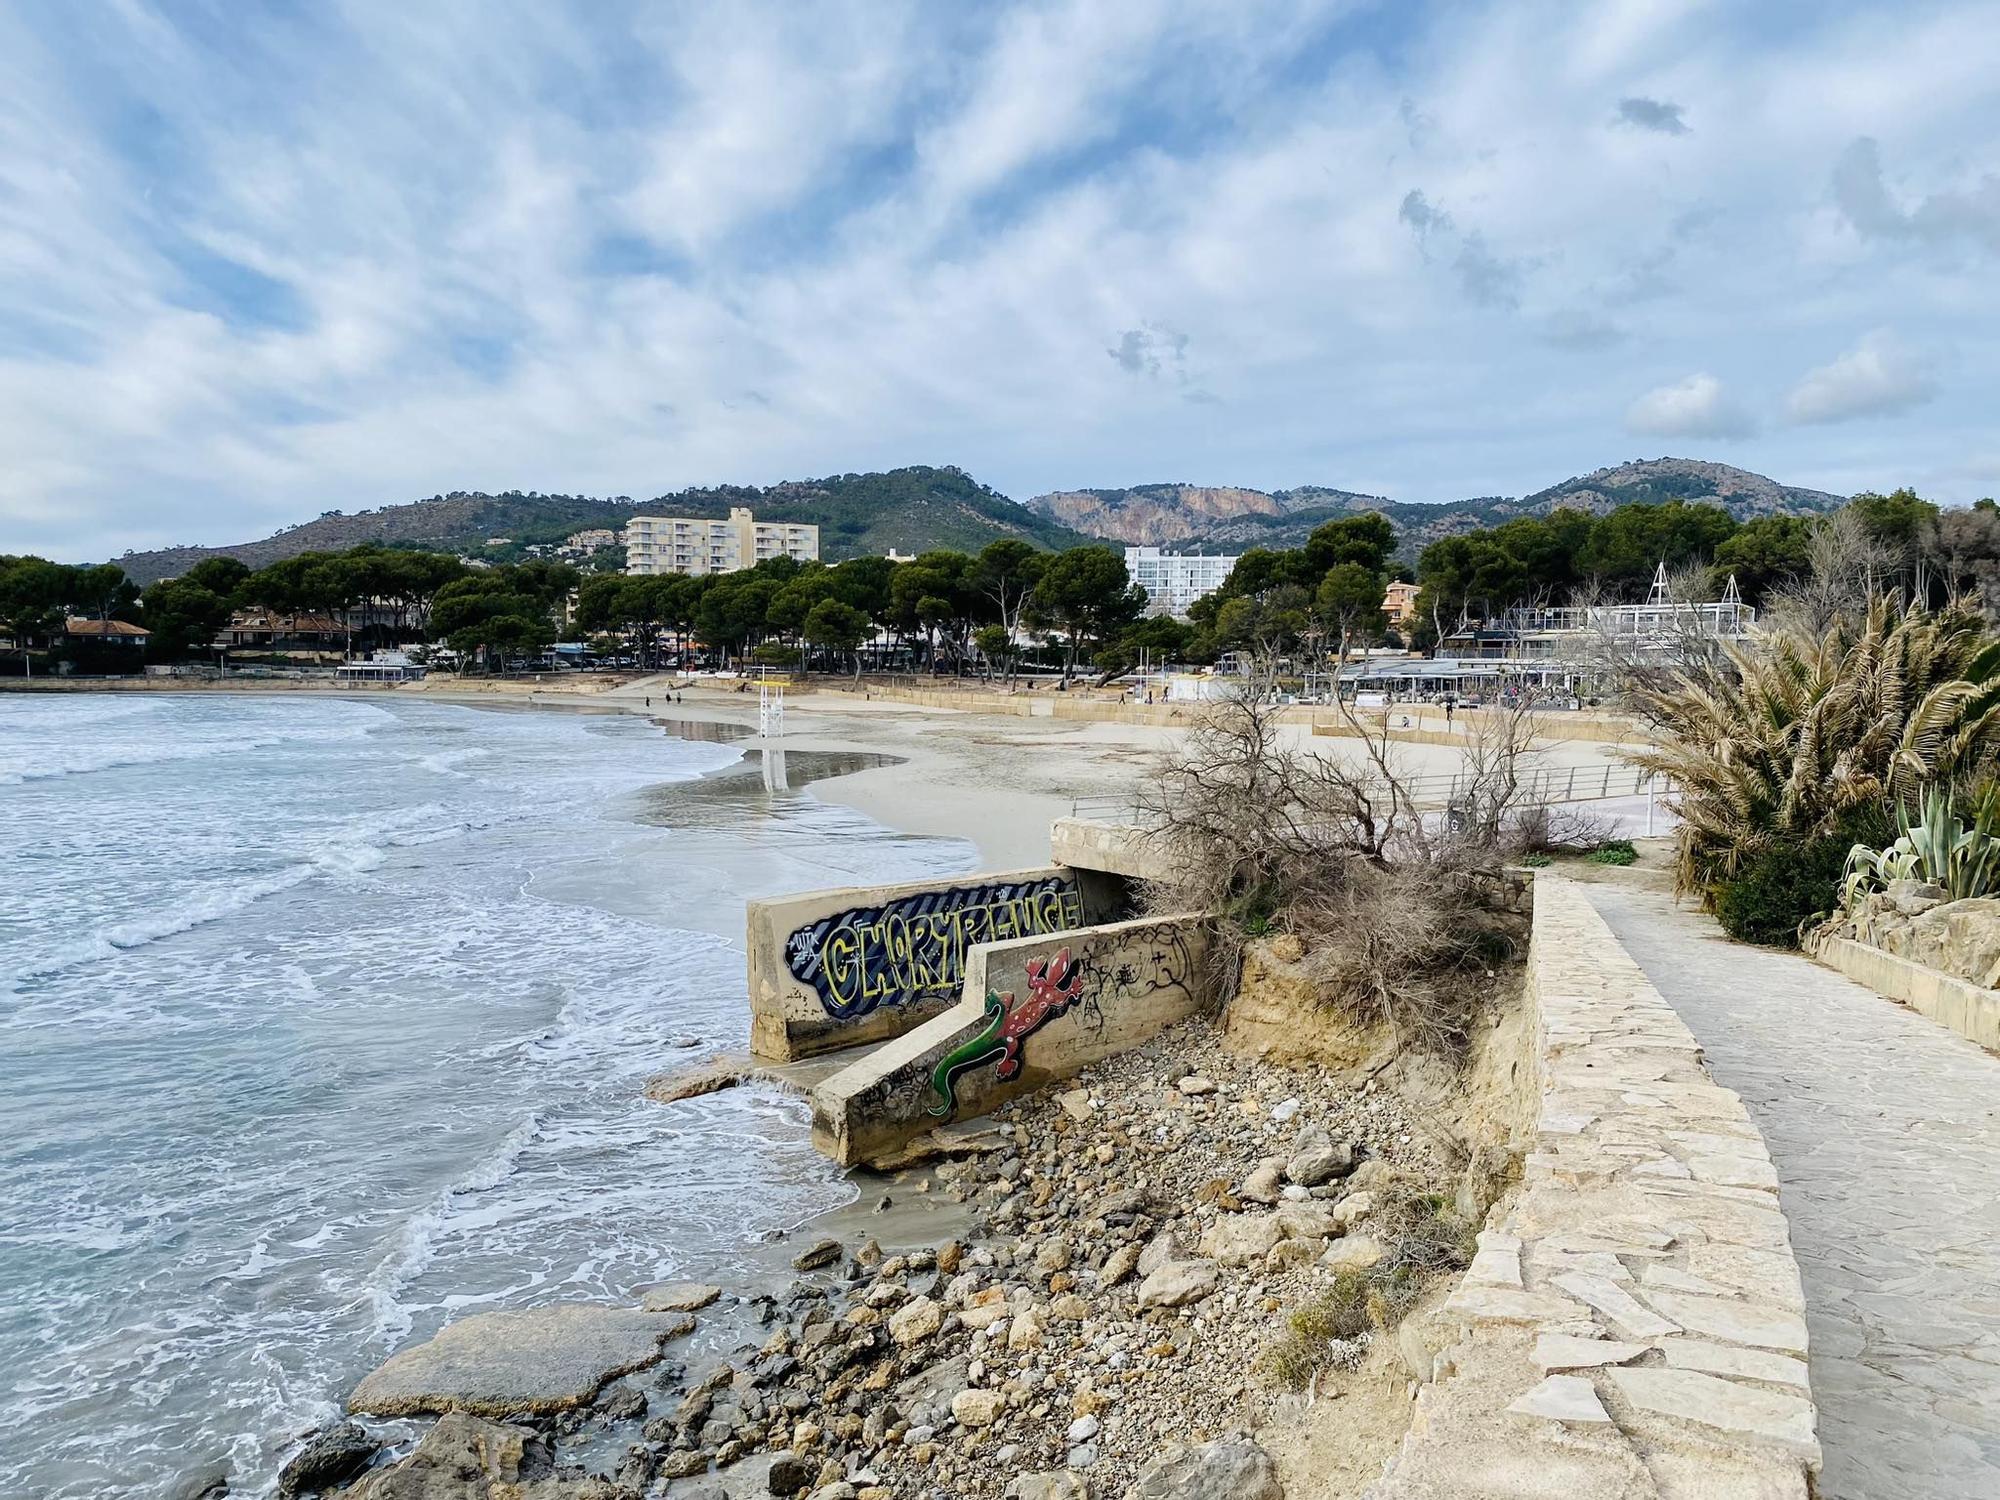
<path id="1" fill-rule="evenodd" d="M 1430 1380 L 1368 1494 L 1806 1500 L 1804 1296 L 1756 1126 L 1560 878 L 1536 882 L 1528 1004 L 1522 1182 L 1418 1344 Z"/>

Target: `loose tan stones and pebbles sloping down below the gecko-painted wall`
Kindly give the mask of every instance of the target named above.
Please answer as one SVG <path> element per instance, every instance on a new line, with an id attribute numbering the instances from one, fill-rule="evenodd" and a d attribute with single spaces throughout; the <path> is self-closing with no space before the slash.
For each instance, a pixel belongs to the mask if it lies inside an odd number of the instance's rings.
<path id="1" fill-rule="evenodd" d="M 1112 1500 L 1166 1446 L 1264 1420 L 1276 1392 L 1256 1350 L 1330 1286 L 1334 1236 L 1366 1256 L 1360 1220 L 1394 1172 L 1430 1160 L 1392 1090 L 1364 1102 L 1328 1084 L 1310 1116 L 1304 1096 L 1268 1104 L 1276 1092 L 1196 1022 L 1004 1108 L 1002 1150 L 894 1188 L 968 1204 L 962 1238 L 904 1252 L 884 1220 L 898 1254 L 802 1250 L 794 1264 L 822 1280 L 734 1304 L 764 1322 L 740 1370 L 692 1392 L 680 1372 L 654 1382 L 672 1392 L 654 1410 L 680 1410 L 646 1424 L 620 1482 L 780 1448 L 784 1494 L 804 1500 Z M 1266 1222 L 1282 1224 L 1274 1244 Z M 1210 1254 L 1218 1224 L 1240 1266 Z"/>

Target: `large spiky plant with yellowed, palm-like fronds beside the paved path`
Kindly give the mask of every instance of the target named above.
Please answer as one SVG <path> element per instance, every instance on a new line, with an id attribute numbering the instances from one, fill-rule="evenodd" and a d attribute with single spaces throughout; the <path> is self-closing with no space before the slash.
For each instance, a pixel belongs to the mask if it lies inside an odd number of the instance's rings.
<path id="1" fill-rule="evenodd" d="M 1824 638 L 1778 630 L 1730 646 L 1636 702 L 1662 738 L 1632 760 L 1680 788 L 1676 886 L 1712 904 L 1770 848 L 1990 772 L 2000 640 L 1972 604 L 1902 610 L 1882 596 Z"/>

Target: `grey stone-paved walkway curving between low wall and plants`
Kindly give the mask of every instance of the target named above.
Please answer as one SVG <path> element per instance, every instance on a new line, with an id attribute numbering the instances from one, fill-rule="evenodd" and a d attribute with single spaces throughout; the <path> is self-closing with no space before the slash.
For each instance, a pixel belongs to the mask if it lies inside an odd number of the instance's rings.
<path id="1" fill-rule="evenodd" d="M 1826 1500 L 2000 1496 L 2000 1058 L 1664 892 L 1584 886 L 1770 1146 Z"/>

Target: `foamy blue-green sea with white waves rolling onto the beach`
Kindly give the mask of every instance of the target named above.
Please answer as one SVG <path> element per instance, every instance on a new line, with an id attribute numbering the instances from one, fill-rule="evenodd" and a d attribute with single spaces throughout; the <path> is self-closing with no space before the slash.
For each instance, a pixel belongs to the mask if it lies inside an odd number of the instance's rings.
<path id="1" fill-rule="evenodd" d="M 798 1100 L 640 1088 L 746 1042 L 746 896 L 972 850 L 810 796 L 676 820 L 738 756 L 618 714 L 0 698 L 0 1496 L 218 1460 L 268 1492 L 410 1338 L 726 1280 L 850 1196 Z"/>

